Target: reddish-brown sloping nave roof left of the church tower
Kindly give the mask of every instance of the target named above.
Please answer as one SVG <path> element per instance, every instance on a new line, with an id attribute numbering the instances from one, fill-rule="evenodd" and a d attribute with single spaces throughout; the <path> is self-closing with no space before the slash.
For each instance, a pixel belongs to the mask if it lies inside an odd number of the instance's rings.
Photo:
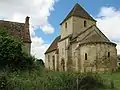
<path id="1" fill-rule="evenodd" d="M 54 50 L 57 50 L 57 43 L 58 41 L 60 40 L 61 36 L 58 36 L 55 38 L 55 40 L 52 42 L 52 44 L 50 45 L 50 47 L 47 49 L 47 51 L 45 52 L 45 54 L 51 52 L 51 51 L 54 51 Z"/>

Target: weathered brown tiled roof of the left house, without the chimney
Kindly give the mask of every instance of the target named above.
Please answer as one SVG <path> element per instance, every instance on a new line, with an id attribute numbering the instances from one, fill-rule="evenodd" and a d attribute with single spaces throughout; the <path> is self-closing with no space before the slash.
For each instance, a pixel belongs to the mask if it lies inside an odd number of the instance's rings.
<path id="1" fill-rule="evenodd" d="M 23 42 L 31 43 L 30 38 L 25 39 L 25 23 L 0 20 L 0 28 L 7 29 L 11 35 L 20 38 Z"/>

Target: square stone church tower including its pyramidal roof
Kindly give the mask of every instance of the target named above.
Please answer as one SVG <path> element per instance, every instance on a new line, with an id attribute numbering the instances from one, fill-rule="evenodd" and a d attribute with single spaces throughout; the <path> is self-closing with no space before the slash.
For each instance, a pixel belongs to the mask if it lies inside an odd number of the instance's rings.
<path id="1" fill-rule="evenodd" d="M 61 38 L 65 38 L 70 34 L 73 37 L 77 34 L 83 32 L 88 27 L 95 25 L 96 20 L 94 20 L 84 8 L 82 8 L 78 3 L 73 7 L 66 18 L 60 23 L 61 25 Z"/>

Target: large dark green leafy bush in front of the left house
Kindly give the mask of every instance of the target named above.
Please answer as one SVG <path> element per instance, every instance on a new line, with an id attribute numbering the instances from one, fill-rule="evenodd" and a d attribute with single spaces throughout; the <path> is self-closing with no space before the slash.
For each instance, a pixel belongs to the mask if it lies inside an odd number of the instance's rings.
<path id="1" fill-rule="evenodd" d="M 22 52 L 22 41 L 0 29 L 0 68 L 26 69 L 32 64 L 33 58 Z"/>

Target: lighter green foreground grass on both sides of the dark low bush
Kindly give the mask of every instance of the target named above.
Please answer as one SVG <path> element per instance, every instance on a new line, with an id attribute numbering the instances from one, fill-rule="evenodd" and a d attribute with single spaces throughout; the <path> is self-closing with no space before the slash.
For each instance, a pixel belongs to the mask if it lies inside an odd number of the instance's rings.
<path id="1" fill-rule="evenodd" d="M 76 79 L 76 76 L 78 76 L 78 74 L 45 71 L 39 68 L 32 70 L 31 72 L 6 71 L 3 75 L 1 74 L 2 78 L 0 78 L 0 85 L 2 82 L 4 82 L 5 87 L 9 88 L 8 90 L 77 90 L 74 88 L 74 85 L 76 85 L 76 80 L 74 81 L 74 79 Z M 115 72 L 112 75 L 111 73 L 106 72 L 100 73 L 99 75 L 102 77 L 102 80 L 106 85 L 106 88 L 99 90 L 120 90 L 120 72 Z M 71 80 L 74 82 L 71 82 Z M 111 80 L 113 80 L 116 89 L 110 89 Z M 67 85 L 70 87 L 70 89 L 67 87 Z M 90 85 L 93 84 L 91 83 Z M 98 90 L 98 88 L 94 90 Z"/>

